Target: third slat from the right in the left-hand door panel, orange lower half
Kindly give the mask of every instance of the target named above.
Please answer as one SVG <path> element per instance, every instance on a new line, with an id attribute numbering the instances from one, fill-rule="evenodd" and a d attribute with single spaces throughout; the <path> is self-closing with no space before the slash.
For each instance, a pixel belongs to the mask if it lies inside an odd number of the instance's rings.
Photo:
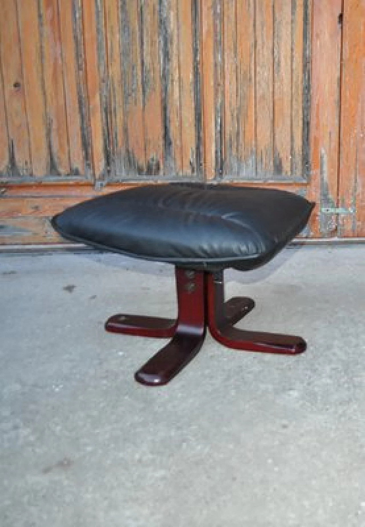
<path id="1" fill-rule="evenodd" d="M 142 4 L 143 112 L 146 173 L 163 173 L 158 0 Z"/>

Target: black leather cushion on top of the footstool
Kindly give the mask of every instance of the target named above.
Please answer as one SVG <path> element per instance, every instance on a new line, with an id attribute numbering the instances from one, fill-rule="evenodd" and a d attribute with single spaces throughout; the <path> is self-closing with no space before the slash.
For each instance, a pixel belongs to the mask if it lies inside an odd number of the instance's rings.
<path id="1" fill-rule="evenodd" d="M 305 226 L 314 203 L 290 192 L 164 184 L 122 190 L 55 216 L 63 237 L 183 267 L 253 269 Z"/>

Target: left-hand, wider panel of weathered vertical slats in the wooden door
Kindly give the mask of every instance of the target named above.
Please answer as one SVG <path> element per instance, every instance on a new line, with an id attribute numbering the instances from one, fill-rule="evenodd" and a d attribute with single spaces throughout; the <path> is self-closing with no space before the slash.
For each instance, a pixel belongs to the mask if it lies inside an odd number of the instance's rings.
<path id="1" fill-rule="evenodd" d="M 201 177 L 199 0 L 3 0 L 3 182 Z"/>

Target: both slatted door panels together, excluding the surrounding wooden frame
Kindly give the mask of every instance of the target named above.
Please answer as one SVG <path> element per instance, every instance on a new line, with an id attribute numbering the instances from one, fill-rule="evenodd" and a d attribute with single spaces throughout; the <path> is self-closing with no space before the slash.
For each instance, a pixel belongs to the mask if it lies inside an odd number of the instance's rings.
<path id="1" fill-rule="evenodd" d="M 2 179 L 306 181 L 310 0 L 3 0 Z"/>

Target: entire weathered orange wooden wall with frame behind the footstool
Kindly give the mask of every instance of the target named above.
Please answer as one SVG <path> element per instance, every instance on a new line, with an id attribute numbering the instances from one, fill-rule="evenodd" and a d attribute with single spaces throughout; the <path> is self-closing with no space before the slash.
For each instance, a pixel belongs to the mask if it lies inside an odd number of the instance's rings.
<path id="1" fill-rule="evenodd" d="M 37 222 L 52 196 L 205 178 L 300 191 L 311 236 L 365 236 L 365 0 L 2 8 L 2 222 L 25 228 L 22 196 Z"/>

